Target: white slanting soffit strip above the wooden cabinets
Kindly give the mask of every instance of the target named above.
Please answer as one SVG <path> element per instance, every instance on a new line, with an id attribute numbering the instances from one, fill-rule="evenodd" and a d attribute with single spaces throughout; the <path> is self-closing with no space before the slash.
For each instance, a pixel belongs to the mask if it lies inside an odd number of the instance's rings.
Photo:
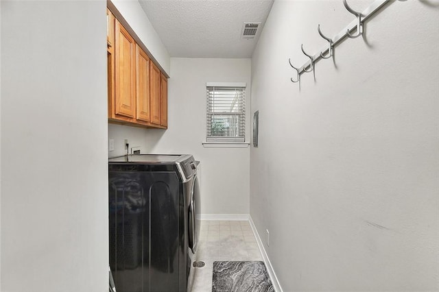
<path id="1" fill-rule="evenodd" d="M 121 12 L 123 18 L 142 40 L 148 51 L 157 60 L 169 75 L 170 60 L 169 53 L 150 20 L 147 18 L 138 0 L 112 0 L 117 10 Z"/>

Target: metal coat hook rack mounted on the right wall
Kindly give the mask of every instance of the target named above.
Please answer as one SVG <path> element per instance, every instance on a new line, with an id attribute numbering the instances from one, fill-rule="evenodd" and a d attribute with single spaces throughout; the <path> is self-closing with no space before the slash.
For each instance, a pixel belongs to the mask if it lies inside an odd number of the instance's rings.
<path id="1" fill-rule="evenodd" d="M 318 51 L 318 53 L 316 53 L 314 56 L 306 53 L 303 49 L 302 44 L 300 46 L 300 49 L 302 49 L 302 53 L 304 53 L 305 56 L 309 58 L 309 60 L 305 62 L 305 64 L 303 64 L 302 66 L 295 67 L 293 66 L 291 60 L 288 59 L 289 65 L 292 66 L 292 68 L 295 69 L 297 73 L 296 79 L 294 80 L 293 77 L 291 77 L 291 81 L 294 83 L 298 82 L 300 84 L 300 75 L 305 72 L 309 73 L 314 71 L 316 62 L 318 62 L 319 60 L 333 58 L 334 47 L 342 42 L 342 40 L 346 38 L 357 38 L 361 36 L 364 32 L 364 22 L 368 20 L 370 16 L 383 8 L 385 4 L 391 1 L 392 0 L 375 0 L 375 2 L 373 2 L 368 8 L 366 8 L 366 10 L 360 13 L 353 10 L 351 6 L 348 5 L 346 0 L 343 0 L 344 8 L 346 8 L 349 13 L 355 16 L 355 20 L 349 23 L 346 27 L 344 27 L 344 29 L 342 29 L 342 31 L 339 34 L 335 35 L 333 38 L 328 38 L 327 36 L 324 36 L 324 34 L 322 34 L 322 31 L 320 30 L 319 24 L 317 27 L 318 34 L 320 34 L 320 36 L 324 38 L 324 40 L 327 40 L 328 44 L 323 49 L 320 49 L 320 51 Z"/>

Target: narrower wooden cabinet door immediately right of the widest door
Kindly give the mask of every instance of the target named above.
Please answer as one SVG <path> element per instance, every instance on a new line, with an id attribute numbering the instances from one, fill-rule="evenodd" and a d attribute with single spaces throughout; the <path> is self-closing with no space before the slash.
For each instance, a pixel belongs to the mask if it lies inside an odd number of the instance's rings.
<path id="1" fill-rule="evenodd" d="M 137 45 L 137 116 L 139 121 L 150 121 L 150 58 Z"/>

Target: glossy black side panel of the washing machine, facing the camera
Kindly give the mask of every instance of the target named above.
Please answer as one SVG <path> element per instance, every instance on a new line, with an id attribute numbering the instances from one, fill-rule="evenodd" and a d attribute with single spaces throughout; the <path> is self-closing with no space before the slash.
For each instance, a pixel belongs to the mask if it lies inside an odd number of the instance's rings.
<path id="1" fill-rule="evenodd" d="M 179 291 L 177 173 L 110 171 L 108 182 L 109 261 L 117 292 Z"/>

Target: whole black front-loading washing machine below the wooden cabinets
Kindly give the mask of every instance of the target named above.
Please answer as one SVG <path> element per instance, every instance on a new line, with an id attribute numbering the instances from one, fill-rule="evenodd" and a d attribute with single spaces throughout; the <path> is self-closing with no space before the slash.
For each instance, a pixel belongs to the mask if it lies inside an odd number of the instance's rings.
<path id="1" fill-rule="evenodd" d="M 191 155 L 108 160 L 110 270 L 117 292 L 190 291 L 200 233 Z"/>

